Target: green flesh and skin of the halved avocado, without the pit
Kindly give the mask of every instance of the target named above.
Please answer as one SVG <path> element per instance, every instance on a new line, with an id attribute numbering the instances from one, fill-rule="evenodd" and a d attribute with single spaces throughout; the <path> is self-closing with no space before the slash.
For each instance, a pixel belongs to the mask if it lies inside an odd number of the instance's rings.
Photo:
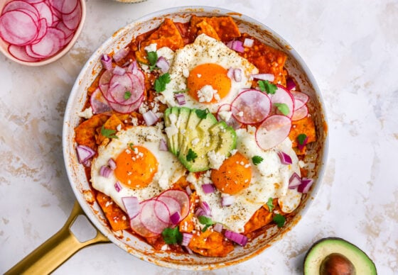
<path id="1" fill-rule="evenodd" d="M 323 255 L 319 255 L 323 253 Z M 319 275 L 320 266 L 329 254 L 340 253 L 350 259 L 356 269 L 356 274 L 377 275 L 375 263 L 356 245 L 348 242 L 340 237 L 326 237 L 315 242 L 304 258 L 303 274 Z M 353 253 L 348 255 L 347 253 Z"/>

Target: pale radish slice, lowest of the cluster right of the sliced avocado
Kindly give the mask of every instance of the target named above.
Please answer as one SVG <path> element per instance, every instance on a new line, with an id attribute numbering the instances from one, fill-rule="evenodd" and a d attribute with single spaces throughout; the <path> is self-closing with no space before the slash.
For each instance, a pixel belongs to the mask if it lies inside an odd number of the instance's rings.
<path id="1" fill-rule="evenodd" d="M 287 116 L 273 115 L 263 121 L 256 131 L 257 145 L 269 150 L 287 138 L 291 129 L 291 120 Z"/>

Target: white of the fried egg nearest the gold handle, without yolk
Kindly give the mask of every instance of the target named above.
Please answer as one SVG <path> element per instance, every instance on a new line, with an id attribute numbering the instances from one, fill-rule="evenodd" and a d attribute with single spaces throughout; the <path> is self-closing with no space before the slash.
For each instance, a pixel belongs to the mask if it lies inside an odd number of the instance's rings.
<path id="1" fill-rule="evenodd" d="M 91 182 L 95 189 L 110 196 L 123 210 L 125 210 L 122 202 L 123 197 L 136 196 L 139 201 L 144 201 L 157 196 L 163 190 L 169 189 L 185 174 L 185 168 L 171 152 L 158 149 L 160 140 L 166 140 L 166 135 L 161 133 L 160 128 L 156 126 L 131 127 L 119 131 L 117 137 L 113 138 L 109 144 L 98 148 L 98 156 L 92 162 Z M 118 181 L 114 173 L 112 172 L 109 177 L 104 177 L 99 174 L 99 169 L 103 165 L 108 165 L 110 158 L 117 159 L 117 156 L 126 150 L 130 143 L 146 147 L 151 151 L 158 161 L 158 171 L 149 186 L 142 189 L 132 189 L 130 186 L 121 183 L 122 190 L 118 192 L 114 187 L 114 184 Z"/>

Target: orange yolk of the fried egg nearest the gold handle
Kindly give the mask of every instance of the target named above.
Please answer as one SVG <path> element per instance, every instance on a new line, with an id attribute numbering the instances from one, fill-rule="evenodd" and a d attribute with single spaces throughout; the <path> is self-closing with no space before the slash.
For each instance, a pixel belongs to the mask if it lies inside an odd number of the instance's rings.
<path id="1" fill-rule="evenodd" d="M 158 171 L 158 161 L 151 151 L 142 146 L 130 146 L 115 160 L 114 175 L 131 188 L 148 186 Z"/>

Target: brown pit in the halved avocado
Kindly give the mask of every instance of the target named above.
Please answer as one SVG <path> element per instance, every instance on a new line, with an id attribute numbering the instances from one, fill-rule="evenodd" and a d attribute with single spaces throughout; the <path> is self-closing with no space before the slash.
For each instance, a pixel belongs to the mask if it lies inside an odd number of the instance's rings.
<path id="1" fill-rule="evenodd" d="M 355 275 L 355 267 L 350 260 L 340 253 L 329 254 L 321 263 L 321 275 Z"/>

